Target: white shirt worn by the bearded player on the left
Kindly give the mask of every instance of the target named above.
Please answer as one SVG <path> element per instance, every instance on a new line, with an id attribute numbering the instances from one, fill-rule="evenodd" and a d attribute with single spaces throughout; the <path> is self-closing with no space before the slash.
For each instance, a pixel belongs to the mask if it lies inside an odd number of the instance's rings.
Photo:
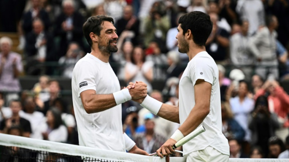
<path id="1" fill-rule="evenodd" d="M 80 93 L 89 89 L 95 90 L 96 94 L 120 91 L 120 83 L 110 64 L 87 53 L 75 64 L 71 84 L 79 145 L 125 152 L 121 104 L 88 114 L 80 98 Z"/>

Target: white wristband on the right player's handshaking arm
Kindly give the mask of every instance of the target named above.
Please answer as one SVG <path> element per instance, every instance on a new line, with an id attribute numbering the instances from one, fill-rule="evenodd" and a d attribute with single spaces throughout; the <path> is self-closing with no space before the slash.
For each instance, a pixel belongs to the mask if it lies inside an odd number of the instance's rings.
<path id="1" fill-rule="evenodd" d="M 148 109 L 151 113 L 157 115 L 159 109 L 162 107 L 162 102 L 159 102 L 155 98 L 150 97 L 147 95 L 144 101 L 141 103 L 141 106 Z"/>

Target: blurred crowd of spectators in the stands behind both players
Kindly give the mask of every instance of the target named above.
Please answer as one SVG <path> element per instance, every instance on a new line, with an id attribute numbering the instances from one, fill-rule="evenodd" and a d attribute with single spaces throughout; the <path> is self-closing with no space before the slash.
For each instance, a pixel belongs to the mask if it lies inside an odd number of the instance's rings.
<path id="1" fill-rule="evenodd" d="M 82 24 L 113 17 L 110 64 L 124 87 L 144 81 L 149 95 L 178 104 L 188 63 L 177 47 L 178 19 L 211 16 L 207 52 L 219 68 L 222 131 L 231 157 L 289 158 L 288 0 L 0 0 L 0 133 L 78 144 L 71 101 L 75 63 L 90 53 Z M 178 124 L 134 102 L 123 129 L 155 152 Z M 112 119 L 113 120 L 113 119 Z"/>

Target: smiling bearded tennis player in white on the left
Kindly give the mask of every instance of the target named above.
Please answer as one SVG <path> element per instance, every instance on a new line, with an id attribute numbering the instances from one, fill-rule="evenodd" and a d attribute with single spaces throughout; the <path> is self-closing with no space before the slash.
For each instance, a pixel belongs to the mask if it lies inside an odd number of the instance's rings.
<path id="1" fill-rule="evenodd" d="M 108 16 L 93 16 L 83 24 L 91 53 L 80 59 L 72 74 L 72 98 L 80 146 L 148 155 L 122 130 L 121 103 L 147 95 L 145 83 L 120 90 L 108 63 L 117 52 L 117 33 Z"/>

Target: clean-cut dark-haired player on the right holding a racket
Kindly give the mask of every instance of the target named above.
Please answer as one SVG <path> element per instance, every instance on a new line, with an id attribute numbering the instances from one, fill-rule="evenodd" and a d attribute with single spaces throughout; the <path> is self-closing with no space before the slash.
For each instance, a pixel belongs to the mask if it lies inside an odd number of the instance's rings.
<path id="1" fill-rule="evenodd" d="M 212 31 L 210 16 L 187 13 L 180 17 L 177 29 L 179 52 L 187 53 L 190 60 L 179 82 L 179 105 L 163 104 L 150 96 L 135 101 L 155 115 L 181 124 L 157 150 L 158 156 L 171 154 L 177 141 L 203 125 L 206 131 L 183 145 L 187 162 L 227 162 L 230 154 L 222 133 L 218 67 L 205 48 Z"/>

